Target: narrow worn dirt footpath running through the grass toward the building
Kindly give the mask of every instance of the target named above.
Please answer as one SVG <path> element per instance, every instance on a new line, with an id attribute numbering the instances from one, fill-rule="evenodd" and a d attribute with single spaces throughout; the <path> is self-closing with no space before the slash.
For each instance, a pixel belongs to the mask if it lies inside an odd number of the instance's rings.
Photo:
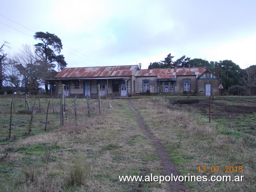
<path id="1" fill-rule="evenodd" d="M 137 120 L 139 122 L 140 128 L 143 131 L 143 134 L 149 138 L 149 140 L 155 145 L 159 159 L 161 161 L 163 167 L 163 175 L 170 176 L 173 174 L 174 176 L 179 175 L 177 168 L 175 167 L 174 163 L 171 161 L 170 155 L 168 154 L 167 150 L 164 148 L 163 144 L 158 140 L 156 136 L 151 133 L 151 131 L 145 126 L 142 117 L 140 116 L 139 112 L 137 112 L 133 107 L 131 102 L 128 102 L 128 106 L 133 113 L 135 113 Z M 184 192 L 189 191 L 188 188 L 182 182 L 168 182 L 170 186 L 170 191 L 177 191 L 177 192 Z"/>

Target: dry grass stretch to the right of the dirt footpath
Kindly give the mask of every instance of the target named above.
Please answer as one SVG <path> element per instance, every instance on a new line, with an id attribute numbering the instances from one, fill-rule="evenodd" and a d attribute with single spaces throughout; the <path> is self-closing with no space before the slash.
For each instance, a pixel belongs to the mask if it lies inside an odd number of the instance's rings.
<path id="1" fill-rule="evenodd" d="M 164 143 L 180 173 L 205 175 L 198 166 L 220 166 L 222 172 L 206 175 L 244 175 L 243 182 L 187 182 L 191 191 L 254 191 L 255 138 L 218 134 L 207 119 L 178 110 L 160 97 L 134 100 L 147 126 Z M 143 107 L 140 107 L 143 106 Z M 225 173 L 225 166 L 243 166 L 242 173 Z"/>

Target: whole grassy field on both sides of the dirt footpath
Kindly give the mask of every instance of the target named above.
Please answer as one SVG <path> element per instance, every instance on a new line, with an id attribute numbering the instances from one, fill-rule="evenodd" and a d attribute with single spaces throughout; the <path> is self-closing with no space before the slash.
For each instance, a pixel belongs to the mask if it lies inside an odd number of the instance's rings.
<path id="1" fill-rule="evenodd" d="M 2 109 L 8 102 L 0 101 L 6 103 Z M 255 191 L 255 136 L 225 134 L 221 121 L 209 124 L 207 118 L 171 106 L 165 98 L 131 103 L 168 150 L 180 175 L 244 175 L 243 182 L 185 182 L 190 191 Z M 59 126 L 59 110 L 55 114 L 51 110 L 52 128 L 44 132 L 44 110 L 38 117 L 42 123 L 33 124 L 33 130 L 41 131 L 28 136 L 20 134 L 26 130 L 23 127 L 12 142 L 0 142 L 0 191 L 168 191 L 165 182 L 119 181 L 119 175 L 162 173 L 156 149 L 143 135 L 126 99 L 102 99 L 100 115 L 98 100 L 90 100 L 90 118 L 86 99 L 78 99 L 77 121 L 73 104 L 74 99 L 66 100 L 64 126 Z M 2 120 L 8 124 L 3 112 Z M 198 166 L 207 172 L 198 172 Z M 208 172 L 212 166 L 219 166 L 219 172 Z M 226 166 L 242 166 L 243 172 L 225 173 Z"/>

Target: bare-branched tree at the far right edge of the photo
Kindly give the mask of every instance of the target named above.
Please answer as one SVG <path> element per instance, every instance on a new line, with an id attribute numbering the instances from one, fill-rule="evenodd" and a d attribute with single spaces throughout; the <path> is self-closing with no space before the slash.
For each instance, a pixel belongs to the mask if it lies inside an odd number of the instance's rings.
<path id="1" fill-rule="evenodd" d="M 240 84 L 246 87 L 247 94 L 256 94 L 256 65 L 243 69 L 240 74 Z"/>

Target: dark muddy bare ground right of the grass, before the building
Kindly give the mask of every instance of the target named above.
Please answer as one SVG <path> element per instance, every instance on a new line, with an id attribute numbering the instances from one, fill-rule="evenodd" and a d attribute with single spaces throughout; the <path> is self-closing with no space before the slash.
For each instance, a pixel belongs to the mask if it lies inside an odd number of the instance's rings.
<path id="1" fill-rule="evenodd" d="M 187 112 L 198 113 L 209 117 L 209 99 L 200 99 L 199 102 L 190 104 L 179 104 L 176 100 L 170 103 Z M 255 100 L 238 100 L 219 98 L 211 100 L 211 120 L 225 121 L 226 127 L 236 128 L 237 131 L 256 136 L 256 115 Z"/>

